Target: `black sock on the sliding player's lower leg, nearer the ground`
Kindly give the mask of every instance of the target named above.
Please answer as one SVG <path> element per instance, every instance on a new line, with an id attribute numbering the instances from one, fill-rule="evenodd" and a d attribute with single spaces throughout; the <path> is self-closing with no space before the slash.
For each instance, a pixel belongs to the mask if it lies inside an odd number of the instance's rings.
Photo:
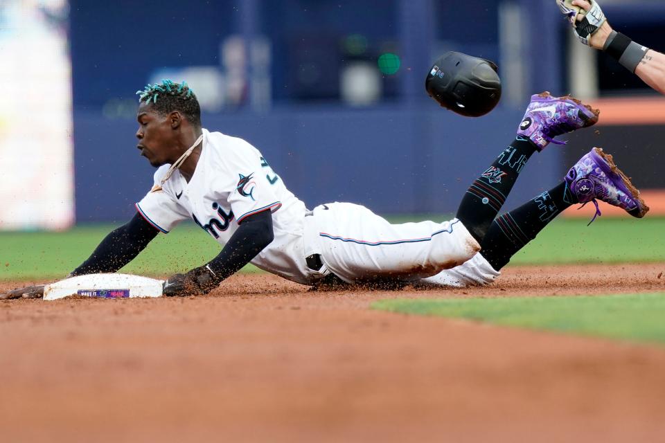
<path id="1" fill-rule="evenodd" d="M 480 253 L 499 271 L 531 242 L 562 210 L 577 203 L 566 182 L 497 217 L 482 242 Z"/>

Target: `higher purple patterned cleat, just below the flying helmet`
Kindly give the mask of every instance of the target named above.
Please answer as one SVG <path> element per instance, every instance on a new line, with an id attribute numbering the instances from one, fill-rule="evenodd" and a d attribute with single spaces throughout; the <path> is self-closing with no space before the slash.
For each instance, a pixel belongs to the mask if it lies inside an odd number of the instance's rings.
<path id="1" fill-rule="evenodd" d="M 517 136 L 528 138 L 542 151 L 549 143 L 565 145 L 554 137 L 595 125 L 598 109 L 592 109 L 571 96 L 553 97 L 547 91 L 531 96 L 531 103 L 517 129 Z"/>

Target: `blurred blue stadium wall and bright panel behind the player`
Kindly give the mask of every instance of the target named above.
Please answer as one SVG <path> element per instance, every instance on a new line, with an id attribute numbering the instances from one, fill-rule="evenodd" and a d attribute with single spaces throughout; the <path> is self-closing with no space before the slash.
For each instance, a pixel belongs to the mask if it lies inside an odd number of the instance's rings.
<path id="1" fill-rule="evenodd" d="M 662 0 L 602 6 L 665 50 Z M 426 96 L 445 51 L 498 62 L 493 113 L 463 118 Z M 592 100 L 601 123 L 535 156 L 508 206 L 592 145 L 640 188 L 665 188 L 665 100 L 575 42 L 553 0 L 0 0 L 0 54 L 0 230 L 129 219 L 154 172 L 135 149 L 134 91 L 161 78 L 186 80 L 204 126 L 256 145 L 310 207 L 452 213 L 546 89 Z"/>

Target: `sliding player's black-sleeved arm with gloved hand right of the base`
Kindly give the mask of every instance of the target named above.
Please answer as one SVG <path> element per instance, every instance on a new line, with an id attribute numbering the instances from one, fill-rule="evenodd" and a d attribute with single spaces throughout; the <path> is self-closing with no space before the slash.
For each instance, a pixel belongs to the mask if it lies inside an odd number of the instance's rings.
<path id="1" fill-rule="evenodd" d="M 245 218 L 222 252 L 210 262 L 164 282 L 165 296 L 197 296 L 209 293 L 256 257 L 274 239 L 269 209 Z"/>

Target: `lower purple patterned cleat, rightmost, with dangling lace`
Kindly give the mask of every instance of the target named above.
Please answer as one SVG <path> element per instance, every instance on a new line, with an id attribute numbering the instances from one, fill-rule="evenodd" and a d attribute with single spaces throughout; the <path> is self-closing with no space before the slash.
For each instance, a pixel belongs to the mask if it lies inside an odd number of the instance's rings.
<path id="1" fill-rule="evenodd" d="M 648 213 L 649 207 L 639 197 L 639 190 L 600 147 L 594 147 L 575 163 L 565 181 L 578 203 L 592 201 L 596 205 L 596 215 L 589 224 L 601 215 L 596 199 L 618 206 L 633 217 L 641 218 Z"/>

